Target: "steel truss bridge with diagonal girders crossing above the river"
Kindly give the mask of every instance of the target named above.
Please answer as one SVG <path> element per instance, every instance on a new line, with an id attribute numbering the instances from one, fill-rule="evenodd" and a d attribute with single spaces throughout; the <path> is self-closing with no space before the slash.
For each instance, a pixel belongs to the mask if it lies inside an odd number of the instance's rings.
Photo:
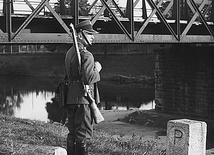
<path id="1" fill-rule="evenodd" d="M 7 3 L 3 3 L 6 1 Z M 77 3 L 79 1 L 76 0 L 72 0 L 71 3 L 65 3 L 65 0 L 60 0 L 59 2 L 54 0 L 41 0 L 38 2 L 37 0 L 0 0 L 0 2 L 4 4 L 1 5 L 2 14 L 6 16 L 6 28 L 5 30 L 0 30 L 0 33 L 1 31 L 4 33 L 4 35 L 2 35 L 3 37 L 0 36 L 0 39 L 3 38 L 2 40 L 4 40 L 6 38 L 8 42 L 16 41 L 16 39 L 20 41 L 18 38 L 19 34 L 29 25 L 34 17 L 39 15 L 41 18 L 49 16 L 57 20 L 68 35 L 64 35 L 65 42 L 70 40 L 67 38 L 71 36 L 69 24 L 68 22 L 66 23 L 65 20 L 71 19 L 73 24 L 77 24 L 80 18 L 82 20 L 83 17 L 90 19 L 92 24 L 102 21 L 102 28 L 108 30 L 104 32 L 101 29 L 97 39 L 98 42 L 100 40 L 101 42 L 106 42 L 105 40 L 107 40 L 107 43 L 112 40 L 114 42 L 136 43 L 144 42 L 145 40 L 151 42 L 201 42 L 201 40 L 213 42 L 213 1 L 214 0 L 127 0 L 126 7 L 121 7 L 115 0 L 94 0 L 93 3 L 87 5 L 87 7 L 81 8 L 82 6 Z M 13 5 L 9 6 L 8 4 L 10 3 Z M 5 6 L 6 4 L 7 7 Z M 24 4 L 30 14 L 28 14 L 27 11 L 24 12 L 25 9 L 19 9 L 18 6 Z M 26 20 L 15 32 L 12 32 L 13 23 L 11 17 L 20 15 L 21 11 L 23 11 L 22 15 L 24 15 L 24 13 L 27 14 Z M 119 27 L 119 30 L 109 28 L 111 24 L 109 21 L 114 21 L 117 28 Z M 153 25 L 156 24 L 156 27 L 160 24 L 164 27 L 164 31 L 153 29 L 154 32 L 150 32 L 147 28 L 151 23 Z M 188 36 L 190 29 L 195 25 L 203 25 L 203 32 L 199 32 L 196 28 L 197 32 L 195 34 L 191 32 L 190 34 L 201 35 L 202 38 Z M 30 37 L 27 35 L 28 34 L 23 35 L 26 37 L 24 40 L 31 40 L 31 38 L 27 38 Z M 45 38 L 45 35 L 49 37 L 49 34 L 43 34 L 44 36 L 39 34 L 34 35 L 37 35 L 35 36 L 36 38 Z M 52 35 L 52 38 L 55 37 L 56 34 Z"/>

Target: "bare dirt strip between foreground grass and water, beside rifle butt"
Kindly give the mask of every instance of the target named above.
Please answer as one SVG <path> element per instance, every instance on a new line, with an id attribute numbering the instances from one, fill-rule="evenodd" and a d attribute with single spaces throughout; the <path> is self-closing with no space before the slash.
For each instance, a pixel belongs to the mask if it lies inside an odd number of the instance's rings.
<path id="1" fill-rule="evenodd" d="M 143 137 L 145 141 L 155 141 L 165 147 L 166 136 L 163 128 L 142 126 L 139 124 L 127 123 L 124 118 L 130 114 L 137 112 L 138 110 L 105 110 L 101 111 L 105 121 L 100 124 L 95 124 L 95 129 L 104 130 L 105 132 L 111 133 L 113 135 L 123 136 L 125 138 L 130 138 L 133 135 L 137 137 Z M 159 133 L 163 133 L 159 135 Z"/>

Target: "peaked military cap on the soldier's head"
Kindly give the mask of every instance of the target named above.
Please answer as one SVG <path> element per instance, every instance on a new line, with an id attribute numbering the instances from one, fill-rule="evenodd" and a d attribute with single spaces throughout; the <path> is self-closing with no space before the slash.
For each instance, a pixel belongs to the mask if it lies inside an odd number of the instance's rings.
<path id="1" fill-rule="evenodd" d="M 80 32 L 81 30 L 85 31 L 89 34 L 97 34 L 98 33 L 97 31 L 95 31 L 93 29 L 92 23 L 90 20 L 84 20 L 84 21 L 80 22 L 79 24 L 77 24 L 75 26 L 75 29 L 76 29 L 77 33 Z"/>

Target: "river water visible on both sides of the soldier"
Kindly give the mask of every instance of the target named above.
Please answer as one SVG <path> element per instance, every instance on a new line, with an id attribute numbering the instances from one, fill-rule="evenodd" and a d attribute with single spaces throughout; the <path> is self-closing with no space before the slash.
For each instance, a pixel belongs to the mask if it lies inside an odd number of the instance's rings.
<path id="1" fill-rule="evenodd" d="M 0 79 L 0 113 L 41 120 L 64 122 L 66 115 L 57 103 L 55 87 L 59 79 Z M 116 85 L 100 82 L 100 109 L 153 109 L 154 88 L 143 85 Z"/>

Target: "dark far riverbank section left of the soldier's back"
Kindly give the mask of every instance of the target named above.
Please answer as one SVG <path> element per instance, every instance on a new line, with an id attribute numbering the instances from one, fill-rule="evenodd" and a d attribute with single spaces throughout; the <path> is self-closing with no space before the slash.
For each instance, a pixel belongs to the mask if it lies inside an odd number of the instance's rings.
<path id="1" fill-rule="evenodd" d="M 12 54 L 1 55 L 0 75 L 62 77 L 64 54 Z"/>

